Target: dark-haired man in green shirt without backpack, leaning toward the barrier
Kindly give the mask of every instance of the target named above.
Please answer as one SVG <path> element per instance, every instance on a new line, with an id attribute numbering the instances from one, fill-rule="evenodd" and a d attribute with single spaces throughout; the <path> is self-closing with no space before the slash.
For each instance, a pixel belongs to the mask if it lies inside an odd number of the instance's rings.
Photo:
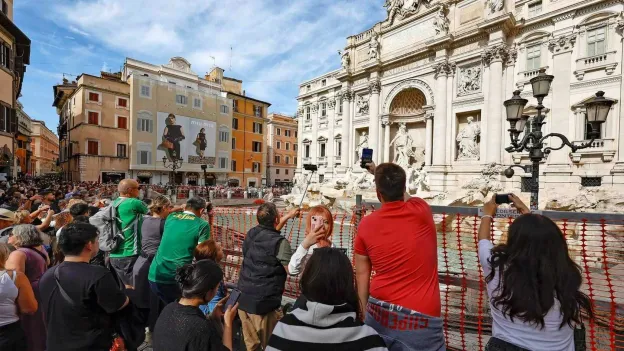
<path id="1" fill-rule="evenodd" d="M 184 212 L 167 217 L 160 246 L 150 266 L 148 280 L 152 291 L 169 304 L 180 298 L 175 280 L 176 269 L 193 261 L 197 244 L 210 238 L 210 224 L 201 218 L 206 201 L 193 197 L 186 202 Z"/>

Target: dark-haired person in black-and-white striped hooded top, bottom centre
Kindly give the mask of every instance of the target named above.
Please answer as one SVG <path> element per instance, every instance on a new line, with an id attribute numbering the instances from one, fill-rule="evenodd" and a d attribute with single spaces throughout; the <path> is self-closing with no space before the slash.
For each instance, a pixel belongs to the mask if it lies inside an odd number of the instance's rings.
<path id="1" fill-rule="evenodd" d="M 266 350 L 387 350 L 362 322 L 353 266 L 342 251 L 314 250 L 300 287 L 293 311 L 277 323 Z"/>

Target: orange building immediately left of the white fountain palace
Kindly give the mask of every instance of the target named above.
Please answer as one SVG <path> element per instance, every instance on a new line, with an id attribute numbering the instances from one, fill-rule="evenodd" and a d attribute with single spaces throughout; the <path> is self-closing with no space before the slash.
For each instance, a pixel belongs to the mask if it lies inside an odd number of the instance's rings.
<path id="1" fill-rule="evenodd" d="M 297 119 L 271 113 L 267 123 L 267 185 L 288 186 L 297 168 Z"/>

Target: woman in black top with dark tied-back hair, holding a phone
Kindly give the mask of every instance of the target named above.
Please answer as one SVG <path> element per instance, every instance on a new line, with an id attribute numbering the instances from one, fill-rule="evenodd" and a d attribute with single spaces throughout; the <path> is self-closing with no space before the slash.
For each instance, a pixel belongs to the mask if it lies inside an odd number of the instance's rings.
<path id="1" fill-rule="evenodd" d="M 182 297 L 167 305 L 158 317 L 154 351 L 231 351 L 238 303 L 224 311 L 226 296 L 208 318 L 199 309 L 217 293 L 223 280 L 221 267 L 213 260 L 201 260 L 178 268 L 175 278 Z M 222 338 L 219 330 L 223 330 Z"/>

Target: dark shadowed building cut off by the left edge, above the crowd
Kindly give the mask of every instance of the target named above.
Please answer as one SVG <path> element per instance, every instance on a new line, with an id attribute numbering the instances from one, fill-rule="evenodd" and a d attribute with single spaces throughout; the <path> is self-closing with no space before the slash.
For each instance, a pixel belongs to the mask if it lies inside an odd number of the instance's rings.
<path id="1" fill-rule="evenodd" d="M 13 23 L 13 0 L 0 2 L 0 179 L 16 177 L 21 170 L 15 134 L 18 133 L 17 99 L 26 65 L 30 64 L 30 39 Z"/>

